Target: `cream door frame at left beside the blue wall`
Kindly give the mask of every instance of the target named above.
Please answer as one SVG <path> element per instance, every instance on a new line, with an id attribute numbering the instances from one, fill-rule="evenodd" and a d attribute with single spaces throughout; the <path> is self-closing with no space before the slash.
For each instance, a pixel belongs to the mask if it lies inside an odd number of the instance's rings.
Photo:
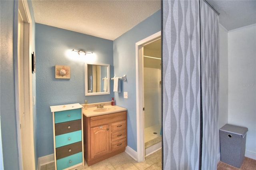
<path id="1" fill-rule="evenodd" d="M 14 75 L 15 75 L 15 112 L 19 169 L 35 169 L 33 103 L 32 103 L 32 24 L 27 0 L 14 2 Z M 23 20 L 23 56 L 21 67 L 23 77 L 19 75 L 19 23 Z M 19 79 L 24 82 L 24 90 L 20 91 Z M 20 95 L 22 93 L 22 95 Z M 24 96 L 23 99 L 20 99 Z M 20 107 L 21 105 L 24 106 Z M 23 114 L 24 113 L 24 114 Z M 20 116 L 23 115 L 23 116 Z M 22 128 L 22 130 L 21 130 Z"/>

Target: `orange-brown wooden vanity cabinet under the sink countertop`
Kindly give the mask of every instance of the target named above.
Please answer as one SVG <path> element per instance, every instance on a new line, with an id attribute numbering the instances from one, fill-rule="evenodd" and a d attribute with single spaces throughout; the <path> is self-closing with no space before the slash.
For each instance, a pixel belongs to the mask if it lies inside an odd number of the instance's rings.
<path id="1" fill-rule="evenodd" d="M 84 153 L 88 166 L 124 152 L 127 111 L 84 117 Z"/>

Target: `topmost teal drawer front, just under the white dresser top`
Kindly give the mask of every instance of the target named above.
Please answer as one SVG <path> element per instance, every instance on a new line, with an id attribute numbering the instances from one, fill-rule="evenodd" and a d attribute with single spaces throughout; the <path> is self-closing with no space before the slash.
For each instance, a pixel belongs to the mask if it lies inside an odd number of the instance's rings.
<path id="1" fill-rule="evenodd" d="M 74 109 L 68 111 L 60 111 L 54 113 L 55 123 L 62 123 L 67 121 L 74 121 L 81 119 L 81 109 Z"/>

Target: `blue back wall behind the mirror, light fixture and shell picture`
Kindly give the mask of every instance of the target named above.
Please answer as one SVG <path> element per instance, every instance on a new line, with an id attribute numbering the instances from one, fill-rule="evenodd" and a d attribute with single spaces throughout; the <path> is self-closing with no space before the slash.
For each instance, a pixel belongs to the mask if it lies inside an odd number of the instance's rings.
<path id="1" fill-rule="evenodd" d="M 71 50 L 92 51 L 78 56 Z M 73 56 L 74 55 L 74 56 Z M 110 64 L 113 77 L 113 41 L 60 28 L 36 24 L 37 156 L 54 153 L 50 106 L 111 101 L 110 95 L 85 96 L 84 61 Z M 70 79 L 55 79 L 55 65 L 70 66 Z M 110 87 L 113 82 L 110 81 Z"/>

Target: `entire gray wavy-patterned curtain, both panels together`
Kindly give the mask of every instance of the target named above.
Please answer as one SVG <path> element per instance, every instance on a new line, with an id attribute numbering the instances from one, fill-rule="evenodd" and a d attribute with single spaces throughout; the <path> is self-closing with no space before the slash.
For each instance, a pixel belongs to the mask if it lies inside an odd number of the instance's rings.
<path id="1" fill-rule="evenodd" d="M 216 169 L 216 155 L 219 152 L 218 16 L 205 2 L 199 0 L 163 0 L 162 10 L 163 168 L 165 170 Z M 201 76 L 202 99 L 200 98 Z M 200 108 L 200 99 L 202 108 Z M 202 157 L 200 157 L 201 110 L 203 112 Z M 201 158 L 202 166 L 199 164 Z"/>

